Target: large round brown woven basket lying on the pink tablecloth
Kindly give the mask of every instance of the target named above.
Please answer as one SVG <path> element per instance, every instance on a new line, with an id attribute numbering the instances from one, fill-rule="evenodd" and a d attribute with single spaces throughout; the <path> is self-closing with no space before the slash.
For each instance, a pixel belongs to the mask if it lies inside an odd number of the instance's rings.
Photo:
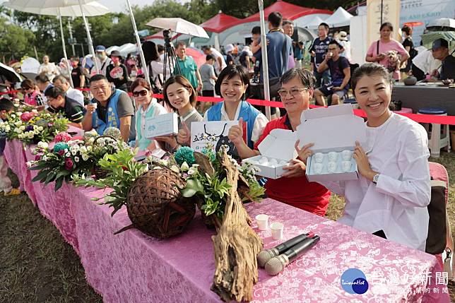
<path id="1" fill-rule="evenodd" d="M 138 177 L 126 199 L 132 225 L 160 239 L 181 233 L 196 213 L 194 199 L 184 198 L 177 188 L 184 185 L 184 180 L 167 168 Z"/>

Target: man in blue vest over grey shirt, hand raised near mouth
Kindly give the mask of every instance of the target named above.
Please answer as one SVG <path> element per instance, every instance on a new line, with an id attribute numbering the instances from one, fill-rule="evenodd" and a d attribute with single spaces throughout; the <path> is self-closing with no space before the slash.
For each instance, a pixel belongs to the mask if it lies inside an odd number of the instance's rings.
<path id="1" fill-rule="evenodd" d="M 129 96 L 122 90 L 112 90 L 107 78 L 100 74 L 90 78 L 90 92 L 93 100 L 87 105 L 82 121 L 83 130 L 95 129 L 102 135 L 108 127 L 115 127 L 120 130 L 127 143 L 131 117 L 134 116 L 134 105 Z"/>

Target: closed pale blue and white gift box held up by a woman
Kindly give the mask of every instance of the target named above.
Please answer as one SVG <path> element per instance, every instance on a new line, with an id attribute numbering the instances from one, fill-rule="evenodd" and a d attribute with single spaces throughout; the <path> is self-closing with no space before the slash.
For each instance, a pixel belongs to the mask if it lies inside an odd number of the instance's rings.
<path id="1" fill-rule="evenodd" d="M 179 118 L 175 112 L 146 119 L 146 138 L 171 136 L 179 133 Z"/>

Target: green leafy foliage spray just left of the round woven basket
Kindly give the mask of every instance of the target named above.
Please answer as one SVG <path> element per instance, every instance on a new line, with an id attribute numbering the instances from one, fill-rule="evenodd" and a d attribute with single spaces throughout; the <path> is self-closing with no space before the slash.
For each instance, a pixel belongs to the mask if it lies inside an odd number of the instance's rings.
<path id="1" fill-rule="evenodd" d="M 122 206 L 126 204 L 128 191 L 131 184 L 144 172 L 148 171 L 148 164 L 137 162 L 134 157 L 137 154 L 137 148 L 125 148 L 118 150 L 117 153 L 112 155 L 105 154 L 98 165 L 104 170 L 109 171 L 107 177 L 104 179 L 91 179 L 85 176 L 76 177 L 76 185 L 78 186 L 95 186 L 99 189 L 110 187 L 113 189 L 110 194 L 104 197 L 104 202 L 100 204 L 107 204 L 114 208 L 111 215 L 117 212 Z M 93 198 L 94 201 L 100 198 Z"/>

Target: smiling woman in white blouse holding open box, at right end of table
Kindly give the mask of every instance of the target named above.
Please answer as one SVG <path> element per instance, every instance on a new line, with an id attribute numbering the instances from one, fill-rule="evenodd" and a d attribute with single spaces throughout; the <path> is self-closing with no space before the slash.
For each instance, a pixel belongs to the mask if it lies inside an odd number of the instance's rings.
<path id="1" fill-rule="evenodd" d="M 367 143 L 357 143 L 353 153 L 360 177 L 321 182 L 345 197 L 338 222 L 425 251 L 431 193 L 427 133 L 420 124 L 389 110 L 392 85 L 384 66 L 360 66 L 352 88 L 367 114 Z M 296 145 L 304 162 L 312 154 L 311 146 Z"/>

